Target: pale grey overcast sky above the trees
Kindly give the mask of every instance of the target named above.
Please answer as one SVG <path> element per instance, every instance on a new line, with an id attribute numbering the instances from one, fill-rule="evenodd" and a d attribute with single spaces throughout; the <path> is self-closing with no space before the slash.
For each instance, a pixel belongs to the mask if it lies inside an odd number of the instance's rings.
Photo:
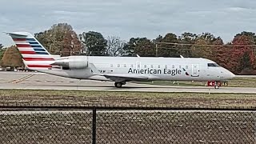
<path id="1" fill-rule="evenodd" d="M 210 32 L 230 42 L 234 34 L 256 28 L 253 0 L 1 0 L 0 6 L 1 32 L 34 34 L 67 22 L 78 34 L 95 30 L 126 41 L 168 32 Z M 13 44 L 2 33 L 0 43 Z"/>

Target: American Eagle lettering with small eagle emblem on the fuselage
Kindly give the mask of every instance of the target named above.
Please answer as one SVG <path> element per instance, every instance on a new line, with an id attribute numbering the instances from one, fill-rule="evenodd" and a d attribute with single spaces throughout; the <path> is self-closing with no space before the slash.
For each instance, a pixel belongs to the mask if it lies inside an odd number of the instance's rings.
<path id="1" fill-rule="evenodd" d="M 183 71 L 185 72 L 186 75 L 190 75 L 186 72 L 186 70 L 184 68 L 182 68 Z M 128 70 L 128 74 L 170 74 L 171 76 L 175 76 L 175 75 L 182 75 L 182 70 L 179 69 L 163 69 L 163 70 L 155 70 L 155 69 L 132 69 L 130 68 Z"/>

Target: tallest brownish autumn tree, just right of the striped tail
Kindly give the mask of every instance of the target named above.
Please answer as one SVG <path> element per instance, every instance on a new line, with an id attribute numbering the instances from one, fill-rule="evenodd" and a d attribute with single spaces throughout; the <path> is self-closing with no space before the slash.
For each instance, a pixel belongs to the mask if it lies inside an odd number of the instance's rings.
<path id="1" fill-rule="evenodd" d="M 49 50 L 50 54 L 68 56 L 80 54 L 82 50 L 78 35 L 67 23 L 54 24 L 50 30 L 35 34 L 35 38 Z"/>

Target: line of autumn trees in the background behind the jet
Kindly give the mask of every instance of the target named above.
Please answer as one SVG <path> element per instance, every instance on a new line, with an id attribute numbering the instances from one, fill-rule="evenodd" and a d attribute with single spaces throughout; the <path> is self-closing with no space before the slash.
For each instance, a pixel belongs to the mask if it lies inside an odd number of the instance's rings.
<path id="1" fill-rule="evenodd" d="M 234 74 L 256 74 L 256 35 L 253 32 L 236 34 L 231 42 L 210 33 L 181 35 L 167 33 L 155 39 L 130 38 L 128 42 L 116 36 L 103 37 L 96 31 L 76 34 L 72 26 L 58 23 L 34 34 L 50 54 L 92 56 L 136 56 L 208 58 Z M 21 55 L 15 46 L 8 49 L 0 44 L 1 66 L 22 66 Z"/>

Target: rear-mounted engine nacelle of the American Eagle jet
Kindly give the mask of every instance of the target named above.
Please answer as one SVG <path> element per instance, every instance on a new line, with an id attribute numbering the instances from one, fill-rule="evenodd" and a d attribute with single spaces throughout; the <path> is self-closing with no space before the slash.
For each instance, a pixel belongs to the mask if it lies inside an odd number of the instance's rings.
<path id="1" fill-rule="evenodd" d="M 52 65 L 63 66 L 63 69 L 86 69 L 88 60 L 87 56 L 69 56 L 56 59 Z"/>

